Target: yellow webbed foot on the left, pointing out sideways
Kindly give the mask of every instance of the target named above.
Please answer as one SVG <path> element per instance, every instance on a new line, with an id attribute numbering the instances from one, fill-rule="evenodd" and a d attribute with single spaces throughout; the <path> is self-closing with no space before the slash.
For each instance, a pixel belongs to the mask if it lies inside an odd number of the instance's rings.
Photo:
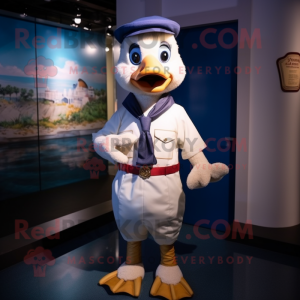
<path id="1" fill-rule="evenodd" d="M 114 271 L 105 275 L 100 279 L 100 285 L 108 285 L 110 290 L 116 293 L 127 293 L 131 296 L 138 297 L 141 292 L 142 277 L 138 277 L 134 280 L 124 280 L 118 278 L 118 271 Z"/>

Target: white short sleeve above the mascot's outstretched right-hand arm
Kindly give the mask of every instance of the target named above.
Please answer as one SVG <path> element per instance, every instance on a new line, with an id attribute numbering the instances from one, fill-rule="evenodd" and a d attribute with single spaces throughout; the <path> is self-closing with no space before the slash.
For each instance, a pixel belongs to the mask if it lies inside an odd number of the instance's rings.
<path id="1" fill-rule="evenodd" d="M 183 107 L 179 114 L 178 148 L 182 149 L 182 159 L 189 159 L 206 148 L 206 144 Z"/>

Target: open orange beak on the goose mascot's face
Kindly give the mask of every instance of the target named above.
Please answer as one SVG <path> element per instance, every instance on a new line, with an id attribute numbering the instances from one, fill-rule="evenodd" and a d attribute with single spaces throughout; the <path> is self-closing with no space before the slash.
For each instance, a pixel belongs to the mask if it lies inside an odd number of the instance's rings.
<path id="1" fill-rule="evenodd" d="M 153 55 L 147 55 L 130 78 L 135 87 L 146 93 L 162 92 L 171 81 L 172 75 Z"/>

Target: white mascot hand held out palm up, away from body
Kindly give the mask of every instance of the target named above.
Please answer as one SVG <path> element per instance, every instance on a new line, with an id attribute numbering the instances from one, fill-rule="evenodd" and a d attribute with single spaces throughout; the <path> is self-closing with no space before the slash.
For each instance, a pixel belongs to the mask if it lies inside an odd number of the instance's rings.
<path id="1" fill-rule="evenodd" d="M 228 167 L 222 163 L 210 164 L 203 152 L 191 157 L 190 162 L 193 169 L 187 178 L 187 186 L 191 190 L 206 187 L 210 182 L 217 182 L 229 173 Z"/>

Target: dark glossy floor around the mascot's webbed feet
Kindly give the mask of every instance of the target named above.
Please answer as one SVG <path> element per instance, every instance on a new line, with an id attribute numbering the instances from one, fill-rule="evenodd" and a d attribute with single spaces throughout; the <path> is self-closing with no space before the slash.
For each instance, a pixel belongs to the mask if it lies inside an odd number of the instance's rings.
<path id="1" fill-rule="evenodd" d="M 198 233 L 209 238 L 201 239 Z M 102 226 L 44 252 L 46 268 L 34 272 L 36 260 L 25 259 L 27 263 L 2 270 L 0 299 L 133 299 L 98 285 L 101 277 L 117 268 L 115 258 L 125 255 L 125 246 L 114 222 Z M 184 277 L 194 290 L 193 299 L 300 299 L 299 258 L 218 239 L 204 228 L 195 233 L 191 225 L 183 225 L 175 249 Z M 159 264 L 159 248 L 151 237 L 143 242 L 143 260 L 146 275 L 139 299 L 155 299 L 149 291 Z"/>

